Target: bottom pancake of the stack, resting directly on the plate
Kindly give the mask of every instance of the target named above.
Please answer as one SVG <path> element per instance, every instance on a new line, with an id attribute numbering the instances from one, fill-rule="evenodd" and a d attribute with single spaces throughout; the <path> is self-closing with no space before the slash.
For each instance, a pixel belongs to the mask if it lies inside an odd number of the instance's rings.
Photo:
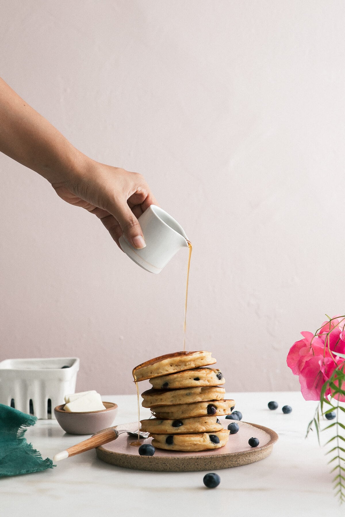
<path id="1" fill-rule="evenodd" d="M 200 434 L 151 434 L 152 445 L 157 449 L 173 451 L 203 451 L 219 449 L 228 442 L 229 431 L 222 429 L 215 433 Z"/>

